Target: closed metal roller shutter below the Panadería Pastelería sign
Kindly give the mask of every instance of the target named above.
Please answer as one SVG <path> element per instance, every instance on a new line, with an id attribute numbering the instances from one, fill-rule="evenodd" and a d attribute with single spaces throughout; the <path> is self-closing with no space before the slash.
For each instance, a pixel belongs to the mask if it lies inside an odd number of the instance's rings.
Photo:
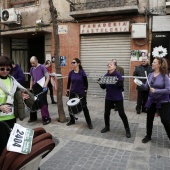
<path id="1" fill-rule="evenodd" d="M 124 68 L 125 76 L 130 71 L 130 35 L 108 34 L 81 36 L 81 62 L 88 74 L 89 95 L 105 95 L 96 80 L 107 72 L 107 63 L 117 59 Z M 129 78 L 124 79 L 124 99 L 129 98 Z"/>

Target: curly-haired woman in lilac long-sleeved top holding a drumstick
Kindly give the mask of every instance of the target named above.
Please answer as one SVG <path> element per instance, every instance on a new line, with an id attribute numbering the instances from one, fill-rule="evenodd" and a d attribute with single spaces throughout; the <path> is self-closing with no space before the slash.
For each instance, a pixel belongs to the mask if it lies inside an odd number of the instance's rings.
<path id="1" fill-rule="evenodd" d="M 167 61 L 164 58 L 155 57 L 152 69 L 154 72 L 148 75 L 148 81 L 141 85 L 143 89 L 150 90 L 145 105 L 147 108 L 146 136 L 142 139 L 142 143 L 151 140 L 154 115 L 157 109 L 159 109 L 161 122 L 170 139 L 170 81 L 167 74 Z"/>

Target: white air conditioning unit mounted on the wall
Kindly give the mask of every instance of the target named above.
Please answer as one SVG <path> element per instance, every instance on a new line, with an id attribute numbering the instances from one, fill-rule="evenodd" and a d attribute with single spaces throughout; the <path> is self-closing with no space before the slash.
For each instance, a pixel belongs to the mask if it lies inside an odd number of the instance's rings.
<path id="1" fill-rule="evenodd" d="M 2 24 L 21 24 L 21 12 L 15 8 L 3 9 L 1 11 Z"/>

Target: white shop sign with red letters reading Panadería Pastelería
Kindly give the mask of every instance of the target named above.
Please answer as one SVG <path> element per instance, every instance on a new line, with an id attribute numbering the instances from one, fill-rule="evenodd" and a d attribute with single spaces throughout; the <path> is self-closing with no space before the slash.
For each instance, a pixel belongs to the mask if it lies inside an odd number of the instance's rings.
<path id="1" fill-rule="evenodd" d="M 80 34 L 129 32 L 129 21 L 81 24 Z"/>

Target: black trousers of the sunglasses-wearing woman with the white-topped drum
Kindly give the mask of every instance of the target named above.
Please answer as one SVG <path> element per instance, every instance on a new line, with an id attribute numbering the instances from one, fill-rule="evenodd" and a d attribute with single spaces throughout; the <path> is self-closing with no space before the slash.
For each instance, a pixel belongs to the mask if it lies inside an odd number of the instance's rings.
<path id="1" fill-rule="evenodd" d="M 74 93 L 70 93 L 69 99 L 75 98 L 75 97 L 79 97 L 80 98 L 80 102 L 82 104 L 82 109 L 83 109 L 83 113 L 84 113 L 84 117 L 86 119 L 86 122 L 88 125 L 91 124 L 91 118 L 90 118 L 90 114 L 89 114 L 89 110 L 87 108 L 87 100 L 86 100 L 86 94 L 74 94 Z M 70 121 L 75 122 L 75 118 L 72 114 L 70 114 Z"/>

